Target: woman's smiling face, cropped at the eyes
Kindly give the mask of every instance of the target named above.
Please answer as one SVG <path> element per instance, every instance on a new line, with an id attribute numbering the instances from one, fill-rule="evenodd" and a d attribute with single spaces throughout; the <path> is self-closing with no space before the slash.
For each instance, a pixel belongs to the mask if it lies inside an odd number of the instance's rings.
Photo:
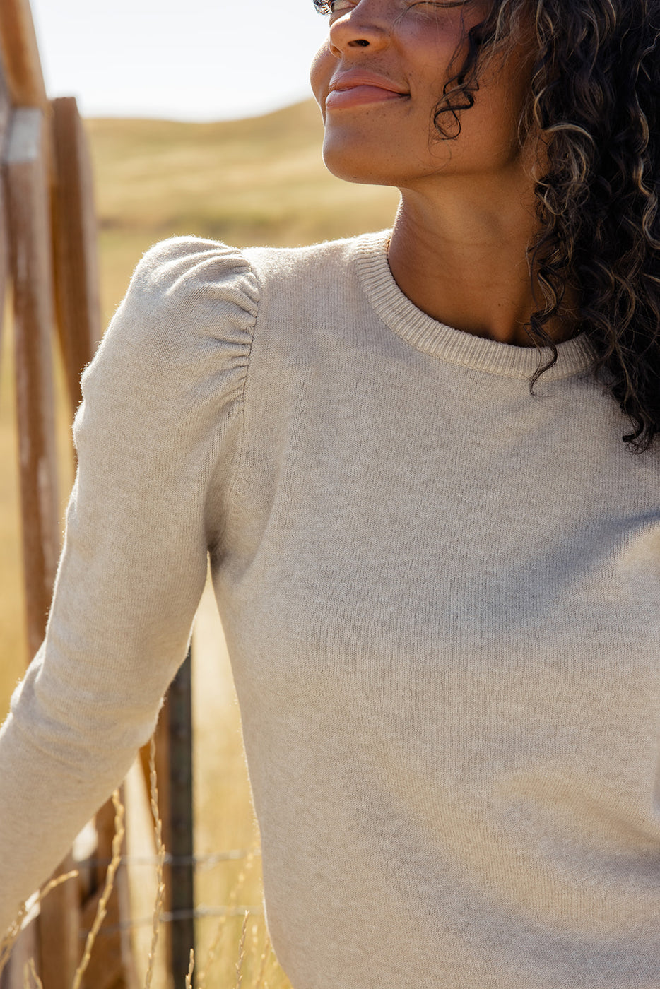
<path id="1" fill-rule="evenodd" d="M 455 139 L 442 139 L 433 124 L 444 84 L 460 70 L 467 32 L 487 16 L 490 0 L 335 0 L 331 8 L 329 40 L 311 73 L 331 172 L 415 188 L 438 175 L 476 178 L 517 162 L 528 87 L 523 52 L 480 73 Z M 455 134 L 450 114 L 439 123 Z"/>

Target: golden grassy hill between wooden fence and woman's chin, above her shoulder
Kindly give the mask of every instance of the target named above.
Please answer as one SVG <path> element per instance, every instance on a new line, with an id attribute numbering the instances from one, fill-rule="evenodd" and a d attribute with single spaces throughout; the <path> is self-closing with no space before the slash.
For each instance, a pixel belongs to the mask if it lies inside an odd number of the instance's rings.
<path id="1" fill-rule="evenodd" d="M 294 245 L 390 225 L 392 189 L 327 171 L 313 101 L 218 124 L 87 121 L 97 184 L 106 315 L 141 252 L 196 233 L 236 246 Z"/>

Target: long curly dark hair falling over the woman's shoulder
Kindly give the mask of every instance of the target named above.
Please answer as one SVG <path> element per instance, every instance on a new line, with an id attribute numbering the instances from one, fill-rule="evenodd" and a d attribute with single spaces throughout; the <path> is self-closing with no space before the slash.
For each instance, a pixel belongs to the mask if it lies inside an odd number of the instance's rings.
<path id="1" fill-rule="evenodd" d="M 519 139 L 545 151 L 528 248 L 543 299 L 526 331 L 552 352 L 530 389 L 557 359 L 546 327 L 571 290 L 574 331 L 630 421 L 623 441 L 641 452 L 660 429 L 660 0 L 492 0 L 435 109 L 441 138 L 460 133 L 484 63 L 506 57 L 525 25 L 535 45 Z"/>

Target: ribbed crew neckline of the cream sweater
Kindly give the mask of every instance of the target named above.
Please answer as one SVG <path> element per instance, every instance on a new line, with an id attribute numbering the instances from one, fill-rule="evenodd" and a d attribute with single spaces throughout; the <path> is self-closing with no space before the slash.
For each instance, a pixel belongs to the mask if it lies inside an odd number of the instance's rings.
<path id="1" fill-rule="evenodd" d="M 452 364 L 501 375 L 529 379 L 552 356 L 549 347 L 519 347 L 466 333 L 433 319 L 404 295 L 390 270 L 387 245 L 391 230 L 367 233 L 355 241 L 358 277 L 376 315 L 398 336 L 418 350 Z M 584 334 L 557 344 L 557 361 L 543 375 L 549 380 L 587 371 L 594 351 Z"/>

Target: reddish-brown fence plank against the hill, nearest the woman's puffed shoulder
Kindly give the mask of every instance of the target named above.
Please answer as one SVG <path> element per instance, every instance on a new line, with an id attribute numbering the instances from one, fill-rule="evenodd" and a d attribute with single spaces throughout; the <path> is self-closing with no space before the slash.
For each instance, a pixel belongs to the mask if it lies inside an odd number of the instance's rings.
<path id="1" fill-rule="evenodd" d="M 53 100 L 52 216 L 55 307 L 71 408 L 80 374 L 101 337 L 101 306 L 92 166 L 73 97 Z"/>

